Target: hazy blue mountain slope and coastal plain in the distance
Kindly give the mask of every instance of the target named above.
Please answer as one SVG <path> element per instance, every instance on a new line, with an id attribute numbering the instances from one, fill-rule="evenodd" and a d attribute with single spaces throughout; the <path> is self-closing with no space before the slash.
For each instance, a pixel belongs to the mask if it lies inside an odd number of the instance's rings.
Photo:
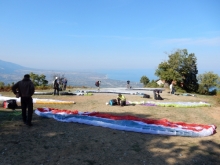
<path id="1" fill-rule="evenodd" d="M 21 80 L 24 74 L 44 74 L 49 83 L 53 82 L 54 76 L 65 77 L 67 85 L 78 87 L 95 87 L 96 81 L 101 81 L 101 87 L 126 87 L 126 82 L 121 80 L 108 79 L 105 74 L 88 71 L 62 71 L 62 70 L 41 70 L 24 67 L 15 63 L 0 60 L 0 82 L 11 84 Z M 143 84 L 131 82 L 132 87 L 143 87 Z"/>

